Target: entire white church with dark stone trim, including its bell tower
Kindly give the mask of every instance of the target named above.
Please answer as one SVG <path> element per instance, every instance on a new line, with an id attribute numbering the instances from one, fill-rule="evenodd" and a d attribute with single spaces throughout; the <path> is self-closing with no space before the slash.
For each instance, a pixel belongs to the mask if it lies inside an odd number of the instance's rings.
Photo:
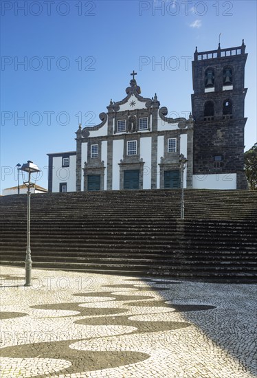
<path id="1" fill-rule="evenodd" d="M 245 44 L 194 53 L 192 114 L 169 118 L 133 76 L 100 124 L 79 126 L 76 151 L 49 156 L 49 192 L 180 188 L 246 189 Z M 181 169 L 181 157 L 186 157 Z"/>

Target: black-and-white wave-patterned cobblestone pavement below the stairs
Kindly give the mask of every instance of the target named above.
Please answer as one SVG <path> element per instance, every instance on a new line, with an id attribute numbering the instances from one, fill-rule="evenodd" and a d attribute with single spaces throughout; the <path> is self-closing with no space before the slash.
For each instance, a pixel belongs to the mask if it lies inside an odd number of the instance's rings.
<path id="1" fill-rule="evenodd" d="M 1 267 L 1 377 L 256 377 L 256 285 Z"/>

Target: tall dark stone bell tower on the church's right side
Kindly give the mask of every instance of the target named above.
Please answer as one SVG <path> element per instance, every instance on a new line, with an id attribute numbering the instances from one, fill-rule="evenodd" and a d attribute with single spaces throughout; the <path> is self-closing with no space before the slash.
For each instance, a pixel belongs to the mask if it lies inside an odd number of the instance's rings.
<path id="1" fill-rule="evenodd" d="M 244 173 L 245 43 L 239 47 L 194 52 L 192 115 L 193 175 L 234 181 L 247 189 Z M 215 188 L 215 184 L 212 184 Z M 206 187 L 206 186 L 205 186 Z M 222 187 L 217 185 L 217 187 Z"/>

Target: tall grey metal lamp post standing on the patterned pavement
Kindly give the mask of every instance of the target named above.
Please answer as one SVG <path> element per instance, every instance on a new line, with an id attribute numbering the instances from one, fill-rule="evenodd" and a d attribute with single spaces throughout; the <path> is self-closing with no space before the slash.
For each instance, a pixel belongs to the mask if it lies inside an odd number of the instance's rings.
<path id="1" fill-rule="evenodd" d="M 31 286 L 31 272 L 32 272 L 32 259 L 31 259 L 31 249 L 30 249 L 30 179 L 32 173 L 40 172 L 40 169 L 36 164 L 33 164 L 30 160 L 23 164 L 21 170 L 28 173 L 28 181 L 24 182 L 27 186 L 27 249 L 25 258 L 25 286 Z"/>

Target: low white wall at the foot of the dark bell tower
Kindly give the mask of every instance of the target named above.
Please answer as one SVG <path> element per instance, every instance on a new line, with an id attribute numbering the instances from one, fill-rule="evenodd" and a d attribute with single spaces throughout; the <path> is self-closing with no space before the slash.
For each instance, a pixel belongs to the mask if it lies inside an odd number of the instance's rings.
<path id="1" fill-rule="evenodd" d="M 223 173 L 216 175 L 193 175 L 192 187 L 194 189 L 236 189 L 236 173 Z"/>

